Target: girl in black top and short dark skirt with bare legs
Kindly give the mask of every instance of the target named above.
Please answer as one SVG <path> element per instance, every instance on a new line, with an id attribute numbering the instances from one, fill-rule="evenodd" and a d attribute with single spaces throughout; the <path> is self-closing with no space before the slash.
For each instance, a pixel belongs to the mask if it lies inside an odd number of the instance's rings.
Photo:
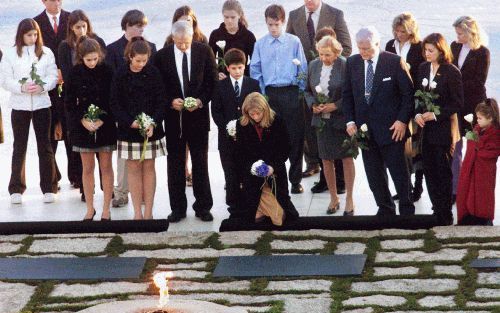
<path id="1" fill-rule="evenodd" d="M 113 71 L 103 63 L 104 54 L 97 40 L 80 37 L 76 46 L 76 62 L 66 80 L 65 104 L 68 110 L 70 140 L 73 151 L 80 153 L 82 160 L 83 191 L 87 204 L 84 220 L 92 220 L 94 208 L 94 166 L 99 155 L 102 173 L 104 203 L 101 221 L 109 221 L 111 196 L 113 194 L 113 167 L 111 156 L 116 150 L 116 126 L 109 107 L 109 89 Z M 89 106 L 103 110 L 97 119 L 91 120 L 85 114 Z"/>

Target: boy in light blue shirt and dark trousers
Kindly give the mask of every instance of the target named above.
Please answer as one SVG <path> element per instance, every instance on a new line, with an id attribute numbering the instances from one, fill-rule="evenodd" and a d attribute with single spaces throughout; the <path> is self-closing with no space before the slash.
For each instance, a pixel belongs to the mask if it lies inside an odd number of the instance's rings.
<path id="1" fill-rule="evenodd" d="M 270 5 L 265 18 L 269 34 L 255 44 L 250 76 L 259 81 L 262 93 L 269 97 L 269 105 L 286 124 L 291 143 L 288 158 L 292 193 L 302 193 L 304 112 L 299 89 L 305 87 L 307 61 L 300 39 L 283 32 L 285 9 L 281 5 Z"/>

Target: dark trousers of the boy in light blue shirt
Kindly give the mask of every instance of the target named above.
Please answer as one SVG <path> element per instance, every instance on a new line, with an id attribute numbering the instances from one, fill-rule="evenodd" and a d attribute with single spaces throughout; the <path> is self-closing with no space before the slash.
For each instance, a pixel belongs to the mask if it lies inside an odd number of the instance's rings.
<path id="1" fill-rule="evenodd" d="M 299 102 L 299 88 L 266 87 L 266 95 L 271 108 L 285 121 L 291 145 L 288 179 L 292 184 L 299 184 L 302 181 L 304 154 L 304 110 Z"/>

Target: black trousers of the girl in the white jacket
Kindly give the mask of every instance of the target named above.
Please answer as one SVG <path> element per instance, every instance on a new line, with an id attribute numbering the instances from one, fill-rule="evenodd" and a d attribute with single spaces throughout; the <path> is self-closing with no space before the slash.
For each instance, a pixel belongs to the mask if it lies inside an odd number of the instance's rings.
<path id="1" fill-rule="evenodd" d="M 43 193 L 57 193 L 56 169 L 54 153 L 50 145 L 50 108 L 36 111 L 12 110 L 11 123 L 14 134 L 14 149 L 12 152 L 12 172 L 9 182 L 9 193 L 24 193 L 26 190 L 26 149 L 30 124 L 36 136 L 38 150 L 38 169 L 40 172 L 40 188 Z"/>

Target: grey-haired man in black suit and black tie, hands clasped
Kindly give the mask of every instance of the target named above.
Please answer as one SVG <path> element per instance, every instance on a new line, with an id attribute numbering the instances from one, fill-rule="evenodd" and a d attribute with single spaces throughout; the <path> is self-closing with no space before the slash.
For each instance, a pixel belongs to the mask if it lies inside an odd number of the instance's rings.
<path id="1" fill-rule="evenodd" d="M 213 205 L 208 177 L 208 105 L 217 80 L 212 49 L 193 42 L 193 27 L 186 21 L 172 25 L 174 44 L 158 51 L 154 64 L 160 70 L 168 103 L 165 119 L 168 151 L 168 190 L 171 223 L 186 217 L 186 144 L 193 164 L 193 209 L 202 221 L 212 221 Z M 196 106 L 185 108 L 184 100 L 196 99 Z"/>

